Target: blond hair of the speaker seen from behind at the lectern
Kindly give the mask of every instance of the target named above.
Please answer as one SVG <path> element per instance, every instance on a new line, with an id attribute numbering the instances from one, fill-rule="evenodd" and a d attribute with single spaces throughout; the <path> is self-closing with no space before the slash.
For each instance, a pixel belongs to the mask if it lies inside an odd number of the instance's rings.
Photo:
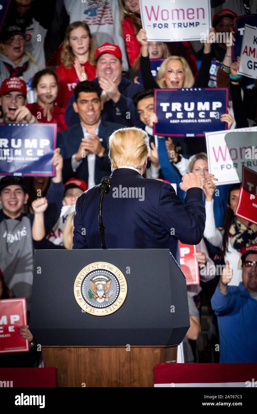
<path id="1" fill-rule="evenodd" d="M 129 165 L 142 168 L 150 153 L 149 136 L 141 128 L 121 128 L 109 138 L 111 171 Z"/>

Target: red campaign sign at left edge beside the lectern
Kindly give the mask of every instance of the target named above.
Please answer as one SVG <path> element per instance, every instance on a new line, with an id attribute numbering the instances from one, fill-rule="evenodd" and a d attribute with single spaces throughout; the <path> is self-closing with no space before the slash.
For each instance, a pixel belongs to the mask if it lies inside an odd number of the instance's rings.
<path id="1" fill-rule="evenodd" d="M 19 335 L 22 325 L 27 325 L 26 299 L 1 299 L 0 353 L 29 351 L 28 341 Z"/>

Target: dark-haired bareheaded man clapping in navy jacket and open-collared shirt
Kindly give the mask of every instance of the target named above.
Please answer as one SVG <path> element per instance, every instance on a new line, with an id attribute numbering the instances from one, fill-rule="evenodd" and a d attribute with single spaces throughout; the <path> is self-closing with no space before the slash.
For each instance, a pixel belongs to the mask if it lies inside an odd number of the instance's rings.
<path id="1" fill-rule="evenodd" d="M 101 119 L 101 92 L 94 82 L 78 83 L 74 94 L 73 108 L 80 122 L 59 132 L 57 137 L 64 158 L 64 182 L 71 177 L 79 178 L 86 181 L 87 188 L 91 188 L 111 173 L 108 138 L 122 125 Z"/>

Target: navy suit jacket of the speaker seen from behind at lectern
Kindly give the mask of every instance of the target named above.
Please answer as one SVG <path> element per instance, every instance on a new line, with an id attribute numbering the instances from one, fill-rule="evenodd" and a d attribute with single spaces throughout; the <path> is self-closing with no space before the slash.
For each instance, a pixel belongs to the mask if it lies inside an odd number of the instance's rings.
<path id="1" fill-rule="evenodd" d="M 144 200 L 143 197 L 142 201 L 140 198 L 115 198 L 116 188 L 141 188 L 139 194 L 144 194 Z M 99 198 L 99 186 L 78 197 L 73 249 L 101 249 Z M 179 263 L 178 240 L 198 244 L 203 238 L 205 195 L 200 188 L 190 188 L 184 206 L 170 184 L 143 178 L 129 168 L 118 168 L 111 174 L 111 189 L 104 196 L 103 223 L 107 248 L 166 248 Z"/>

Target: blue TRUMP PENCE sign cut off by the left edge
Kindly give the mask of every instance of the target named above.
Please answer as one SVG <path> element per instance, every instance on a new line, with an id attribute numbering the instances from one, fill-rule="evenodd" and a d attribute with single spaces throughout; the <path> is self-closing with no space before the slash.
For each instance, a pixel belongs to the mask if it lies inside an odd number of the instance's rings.
<path id="1" fill-rule="evenodd" d="M 0 175 L 55 176 L 57 124 L 0 124 Z"/>

